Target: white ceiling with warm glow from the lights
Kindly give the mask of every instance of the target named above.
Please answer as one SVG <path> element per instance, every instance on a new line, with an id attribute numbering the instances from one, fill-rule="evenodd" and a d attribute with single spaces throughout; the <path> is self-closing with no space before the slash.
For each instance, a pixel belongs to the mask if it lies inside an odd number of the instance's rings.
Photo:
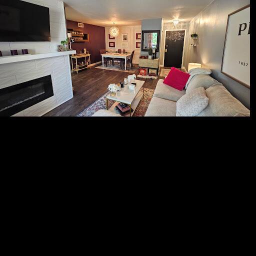
<path id="1" fill-rule="evenodd" d="M 66 18 L 108 26 L 140 25 L 142 19 L 189 21 L 212 0 L 63 0 Z"/>

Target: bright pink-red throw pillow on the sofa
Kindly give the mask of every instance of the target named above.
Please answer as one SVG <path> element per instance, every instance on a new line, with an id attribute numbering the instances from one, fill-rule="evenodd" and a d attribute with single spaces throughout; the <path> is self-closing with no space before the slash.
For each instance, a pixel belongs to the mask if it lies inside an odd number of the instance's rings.
<path id="1" fill-rule="evenodd" d="M 175 67 L 171 67 L 170 72 L 163 83 L 178 90 L 183 90 L 190 74 L 184 73 Z"/>

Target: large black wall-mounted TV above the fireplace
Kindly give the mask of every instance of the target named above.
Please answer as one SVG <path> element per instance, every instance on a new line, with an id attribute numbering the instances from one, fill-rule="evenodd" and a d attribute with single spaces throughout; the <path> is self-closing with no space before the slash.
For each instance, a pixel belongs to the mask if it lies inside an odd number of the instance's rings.
<path id="1" fill-rule="evenodd" d="M 0 42 L 50 41 L 49 8 L 0 0 Z"/>

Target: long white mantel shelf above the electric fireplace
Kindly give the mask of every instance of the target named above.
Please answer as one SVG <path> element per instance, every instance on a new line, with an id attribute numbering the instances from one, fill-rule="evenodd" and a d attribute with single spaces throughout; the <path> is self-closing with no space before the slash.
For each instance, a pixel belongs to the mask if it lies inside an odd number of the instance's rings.
<path id="1" fill-rule="evenodd" d="M 40 53 L 40 54 L 24 54 L 24 55 L 14 55 L 14 56 L 6 56 L 6 57 L 3 56 L 3 57 L 0 57 L 0 64 L 20 62 L 20 61 L 26 61 L 31 59 L 39 59 L 39 58 L 50 58 L 50 57 L 71 55 L 71 54 L 76 54 L 76 50 L 67 50 L 67 51 Z"/>

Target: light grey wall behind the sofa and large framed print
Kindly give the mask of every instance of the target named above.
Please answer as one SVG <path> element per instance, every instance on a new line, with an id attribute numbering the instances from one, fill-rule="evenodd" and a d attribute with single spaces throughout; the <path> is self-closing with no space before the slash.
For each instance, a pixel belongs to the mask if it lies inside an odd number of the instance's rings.
<path id="1" fill-rule="evenodd" d="M 188 33 L 196 32 L 196 47 L 188 46 L 185 67 L 189 62 L 201 63 L 212 70 L 212 77 L 247 108 L 250 107 L 250 89 L 221 73 L 222 56 L 229 13 L 247 5 L 250 0 L 215 0 L 191 21 Z"/>

